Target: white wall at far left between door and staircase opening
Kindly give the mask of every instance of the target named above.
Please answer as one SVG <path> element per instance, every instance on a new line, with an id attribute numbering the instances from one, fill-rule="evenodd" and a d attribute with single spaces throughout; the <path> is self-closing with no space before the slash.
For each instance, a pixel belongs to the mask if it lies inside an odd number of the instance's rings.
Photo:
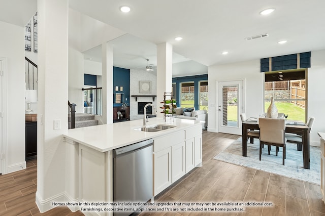
<path id="1" fill-rule="evenodd" d="M 4 173 L 26 168 L 24 28 L 0 21 L 0 57 L 7 59 L 7 101 L 4 101 Z M 17 136 L 19 135 L 19 136 Z"/>

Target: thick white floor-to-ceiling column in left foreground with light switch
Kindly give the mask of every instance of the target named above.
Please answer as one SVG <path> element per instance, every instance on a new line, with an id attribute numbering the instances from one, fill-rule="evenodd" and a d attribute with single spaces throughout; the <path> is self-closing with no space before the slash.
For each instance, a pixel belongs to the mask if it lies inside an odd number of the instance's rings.
<path id="1" fill-rule="evenodd" d="M 68 131 L 68 0 L 38 0 L 38 167 L 41 212 L 63 200 Z M 55 124 L 56 123 L 56 124 Z M 54 127 L 56 125 L 56 127 Z"/>

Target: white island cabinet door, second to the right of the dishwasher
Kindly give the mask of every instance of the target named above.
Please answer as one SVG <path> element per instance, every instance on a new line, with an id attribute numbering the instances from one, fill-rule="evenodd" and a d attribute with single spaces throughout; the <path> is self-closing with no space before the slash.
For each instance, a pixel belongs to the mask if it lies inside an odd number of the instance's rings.
<path id="1" fill-rule="evenodd" d="M 172 182 L 185 175 L 185 142 L 172 146 Z"/>

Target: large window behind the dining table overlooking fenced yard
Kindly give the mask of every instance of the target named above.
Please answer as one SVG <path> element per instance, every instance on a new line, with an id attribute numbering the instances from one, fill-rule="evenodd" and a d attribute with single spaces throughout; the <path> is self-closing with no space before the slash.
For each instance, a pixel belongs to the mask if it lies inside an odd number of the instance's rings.
<path id="1" fill-rule="evenodd" d="M 279 113 L 288 120 L 306 122 L 307 116 L 307 69 L 284 70 L 265 73 L 264 109 L 270 105 L 271 97 Z"/>

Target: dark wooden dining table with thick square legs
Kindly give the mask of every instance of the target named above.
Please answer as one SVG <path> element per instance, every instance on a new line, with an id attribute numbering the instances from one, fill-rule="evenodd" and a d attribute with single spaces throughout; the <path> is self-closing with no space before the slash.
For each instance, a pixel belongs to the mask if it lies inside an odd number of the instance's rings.
<path id="1" fill-rule="evenodd" d="M 248 118 L 242 122 L 242 145 L 243 156 L 247 157 L 247 129 L 259 130 L 258 118 Z M 310 168 L 310 153 L 309 153 L 309 134 L 310 127 L 305 123 L 297 121 L 286 121 L 285 133 L 298 134 L 302 136 L 302 151 L 304 168 Z"/>

